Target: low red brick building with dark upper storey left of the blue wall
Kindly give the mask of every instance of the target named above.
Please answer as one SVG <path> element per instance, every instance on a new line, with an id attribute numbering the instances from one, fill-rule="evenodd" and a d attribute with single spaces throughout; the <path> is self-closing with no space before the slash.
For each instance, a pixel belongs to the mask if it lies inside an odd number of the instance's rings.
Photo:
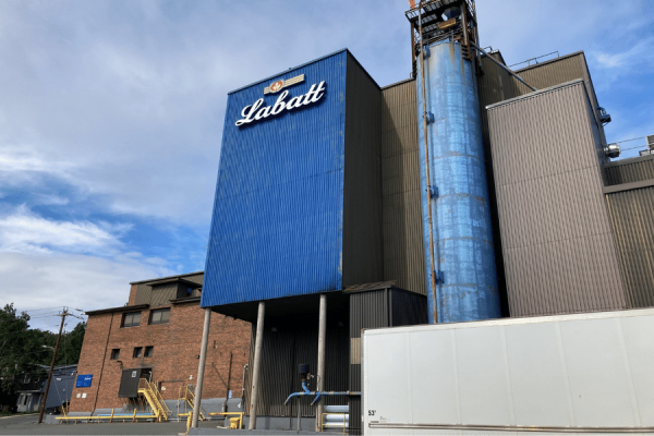
<path id="1" fill-rule="evenodd" d="M 166 400 L 177 400 L 180 387 L 195 386 L 205 311 L 199 307 L 204 272 L 131 283 L 121 307 L 87 312 L 78 374 L 93 375 L 89 387 L 75 387 L 72 412 L 123 408 L 134 392 L 133 377 L 156 383 Z M 249 359 L 250 323 L 214 313 L 207 351 L 203 400 L 232 390 L 241 396 Z"/>

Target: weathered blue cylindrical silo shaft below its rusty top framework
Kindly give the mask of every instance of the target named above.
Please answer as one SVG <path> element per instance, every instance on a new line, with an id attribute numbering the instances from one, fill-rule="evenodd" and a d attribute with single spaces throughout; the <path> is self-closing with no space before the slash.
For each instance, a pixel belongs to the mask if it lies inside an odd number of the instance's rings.
<path id="1" fill-rule="evenodd" d="M 444 281 L 432 289 L 427 272 L 429 323 L 453 323 L 500 316 L 493 250 L 488 186 L 484 168 L 476 81 L 459 44 L 439 43 L 425 59 L 435 265 Z M 419 65 L 420 66 L 420 65 Z M 419 75 L 420 77 L 420 75 Z M 422 84 L 417 84 L 419 113 Z M 420 119 L 421 184 L 425 263 L 429 271 L 427 186 L 422 119 Z M 434 298 L 435 296 L 435 298 Z M 435 301 L 434 301 L 435 300 Z"/>

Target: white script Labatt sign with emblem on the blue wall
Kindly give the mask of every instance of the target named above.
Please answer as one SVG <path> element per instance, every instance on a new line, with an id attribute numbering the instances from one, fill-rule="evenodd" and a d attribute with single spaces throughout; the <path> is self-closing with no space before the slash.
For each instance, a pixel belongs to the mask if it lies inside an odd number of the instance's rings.
<path id="1" fill-rule="evenodd" d="M 301 82 L 304 82 L 304 74 L 288 78 L 286 81 L 277 81 L 271 83 L 270 86 L 267 86 L 264 89 L 264 94 L 275 94 L 288 86 L 295 85 Z M 325 81 L 311 85 L 308 93 L 293 97 L 289 101 L 284 101 L 288 95 L 288 90 L 282 92 L 279 97 L 277 97 L 277 101 L 275 101 L 275 105 L 272 106 L 263 106 L 263 98 L 259 98 L 253 105 L 245 106 L 241 111 L 241 117 L 243 118 L 237 121 L 235 124 L 238 126 L 250 124 L 251 122 L 259 121 L 268 117 L 278 116 L 284 110 L 293 110 L 303 106 L 313 105 L 325 96 Z"/>

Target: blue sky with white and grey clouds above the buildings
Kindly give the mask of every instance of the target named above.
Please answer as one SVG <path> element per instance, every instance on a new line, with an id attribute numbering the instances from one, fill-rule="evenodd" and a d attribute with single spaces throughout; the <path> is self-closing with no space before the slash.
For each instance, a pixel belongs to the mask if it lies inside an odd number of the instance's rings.
<path id="1" fill-rule="evenodd" d="M 227 93 L 342 48 L 380 86 L 408 78 L 408 7 L 1 1 L 0 304 L 56 330 L 57 307 L 121 306 L 131 281 L 203 270 Z M 477 0 L 480 40 L 508 64 L 584 50 L 608 141 L 642 137 L 654 134 L 650 7 Z"/>

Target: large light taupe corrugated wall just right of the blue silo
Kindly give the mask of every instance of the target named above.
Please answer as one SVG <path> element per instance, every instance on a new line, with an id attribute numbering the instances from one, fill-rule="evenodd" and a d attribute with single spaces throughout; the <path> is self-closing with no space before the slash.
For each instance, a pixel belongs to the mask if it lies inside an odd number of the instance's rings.
<path id="1" fill-rule="evenodd" d="M 627 306 L 582 82 L 488 110 L 511 316 Z"/>

